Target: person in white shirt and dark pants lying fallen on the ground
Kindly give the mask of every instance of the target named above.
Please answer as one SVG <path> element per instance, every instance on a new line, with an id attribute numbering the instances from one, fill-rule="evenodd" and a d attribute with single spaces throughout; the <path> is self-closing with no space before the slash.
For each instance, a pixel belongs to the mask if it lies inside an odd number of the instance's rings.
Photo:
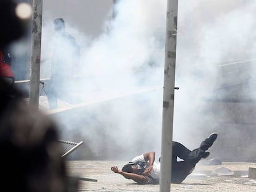
<path id="1" fill-rule="evenodd" d="M 205 159 L 210 155 L 210 152 L 206 151 L 212 146 L 217 136 L 217 133 L 211 133 L 202 141 L 199 148 L 192 151 L 181 143 L 173 141 L 171 183 L 183 182 L 195 169 L 195 165 L 200 159 Z M 183 161 L 177 161 L 177 157 Z M 154 151 L 134 157 L 129 164 L 122 167 L 122 170 L 117 166 L 111 167 L 111 170 L 139 184 L 158 184 L 160 181 L 160 163 L 155 162 Z"/>

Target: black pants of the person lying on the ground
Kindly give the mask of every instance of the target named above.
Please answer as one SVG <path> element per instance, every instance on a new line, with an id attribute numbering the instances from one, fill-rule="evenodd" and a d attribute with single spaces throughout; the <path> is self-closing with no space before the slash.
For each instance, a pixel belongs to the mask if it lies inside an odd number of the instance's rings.
<path id="1" fill-rule="evenodd" d="M 190 151 L 183 144 L 173 141 L 171 183 L 181 183 L 192 172 L 205 153 L 205 148 L 208 149 L 207 145 L 206 139 L 202 141 L 199 148 Z M 177 157 L 184 161 L 177 161 Z"/>

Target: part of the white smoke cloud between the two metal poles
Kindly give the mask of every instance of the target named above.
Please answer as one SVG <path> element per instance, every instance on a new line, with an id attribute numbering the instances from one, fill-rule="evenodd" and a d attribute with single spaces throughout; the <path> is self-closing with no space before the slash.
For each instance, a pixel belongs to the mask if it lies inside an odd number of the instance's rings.
<path id="1" fill-rule="evenodd" d="M 79 91 L 79 98 L 89 102 L 92 98 L 128 95 L 123 99 L 88 106 L 79 117 L 74 115 L 77 122 L 70 123 L 73 115 L 69 114 L 67 120 L 66 113 L 56 118 L 61 127 L 66 127 L 73 135 L 79 131 L 88 148 L 95 151 L 95 156 L 100 157 L 101 152 L 106 156 L 106 152 L 112 149 L 108 152 L 111 157 L 116 150 L 115 146 L 111 147 L 113 143 L 120 149 L 128 148 L 132 155 L 150 148 L 160 150 L 164 65 L 164 38 L 160 35 L 164 35 L 165 10 L 164 6 L 158 7 L 157 11 L 155 7 L 161 4 L 157 1 L 147 1 L 146 4 L 122 1 L 117 5 L 117 17 L 106 20 L 105 33 L 91 43 L 86 43 L 85 34 L 66 22 L 66 31 L 72 33 L 81 48 L 80 68 L 75 75 L 85 78 L 81 78 L 75 88 Z M 43 26 L 42 57 L 51 54 L 52 20 L 45 20 Z M 46 67 L 45 77 L 49 77 L 47 70 Z M 149 91 L 137 93 L 143 89 Z M 150 144 L 150 140 L 154 143 Z M 141 143 L 145 146 L 134 150 L 134 144 Z M 123 154 L 120 157 L 124 158 Z"/>

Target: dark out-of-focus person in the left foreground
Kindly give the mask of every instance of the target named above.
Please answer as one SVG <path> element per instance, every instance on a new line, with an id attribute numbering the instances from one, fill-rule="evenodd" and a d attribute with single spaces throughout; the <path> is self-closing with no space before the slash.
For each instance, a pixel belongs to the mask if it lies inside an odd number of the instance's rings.
<path id="1" fill-rule="evenodd" d="M 0 47 L 24 34 L 22 20 L 15 15 L 15 3 L 0 1 Z M 6 191 L 77 191 L 66 177 L 66 165 L 55 123 L 38 109 L 23 101 L 17 90 L 0 76 L 0 170 L 1 188 Z"/>

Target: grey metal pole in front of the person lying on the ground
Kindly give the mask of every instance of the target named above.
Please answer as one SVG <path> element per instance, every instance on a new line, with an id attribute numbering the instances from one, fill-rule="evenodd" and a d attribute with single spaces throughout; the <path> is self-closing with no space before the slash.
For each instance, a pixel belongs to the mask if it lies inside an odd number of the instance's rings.
<path id="1" fill-rule="evenodd" d="M 176 37 L 177 0 L 168 0 L 166 15 L 160 192 L 169 192 L 171 190 L 171 162 L 173 152 L 173 108 L 175 88 L 174 81 L 177 40 Z"/>

